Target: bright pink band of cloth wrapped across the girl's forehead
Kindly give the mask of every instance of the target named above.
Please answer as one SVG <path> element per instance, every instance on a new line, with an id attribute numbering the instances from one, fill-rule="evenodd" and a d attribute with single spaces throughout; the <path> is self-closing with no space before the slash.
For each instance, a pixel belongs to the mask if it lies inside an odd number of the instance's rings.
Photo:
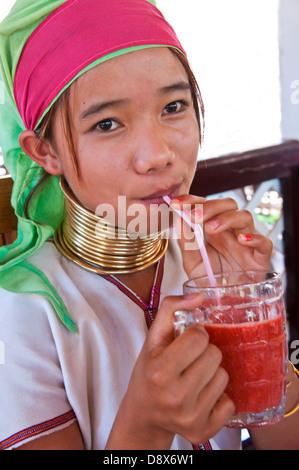
<path id="1" fill-rule="evenodd" d="M 86 69 L 148 46 L 184 50 L 172 27 L 147 0 L 68 0 L 31 34 L 19 60 L 14 96 L 34 130 L 54 100 Z"/>

